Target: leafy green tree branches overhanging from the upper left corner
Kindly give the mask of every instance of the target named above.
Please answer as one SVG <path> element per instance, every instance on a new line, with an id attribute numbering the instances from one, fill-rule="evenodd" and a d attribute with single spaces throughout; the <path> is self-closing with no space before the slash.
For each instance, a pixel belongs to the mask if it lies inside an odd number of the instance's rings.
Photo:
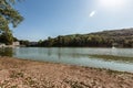
<path id="1" fill-rule="evenodd" d="M 12 33 L 9 29 L 9 24 L 17 28 L 17 25 L 23 20 L 20 13 L 13 9 L 16 1 L 17 0 L 0 0 L 0 33 L 6 34 L 6 38 L 8 37 L 10 42 L 13 37 L 11 37 Z"/>

